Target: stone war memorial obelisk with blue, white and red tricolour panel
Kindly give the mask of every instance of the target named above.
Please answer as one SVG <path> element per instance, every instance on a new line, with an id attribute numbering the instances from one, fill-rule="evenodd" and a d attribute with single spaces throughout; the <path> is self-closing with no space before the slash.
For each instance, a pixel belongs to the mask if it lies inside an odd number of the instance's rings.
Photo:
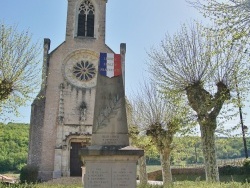
<path id="1" fill-rule="evenodd" d="M 144 152 L 129 146 L 121 54 L 101 53 L 91 146 L 80 150 L 84 188 L 135 188 L 136 163 Z"/>

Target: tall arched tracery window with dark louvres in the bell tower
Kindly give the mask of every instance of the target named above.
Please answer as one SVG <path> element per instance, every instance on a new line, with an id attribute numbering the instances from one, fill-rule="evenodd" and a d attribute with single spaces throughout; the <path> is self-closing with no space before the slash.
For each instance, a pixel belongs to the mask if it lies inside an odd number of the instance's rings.
<path id="1" fill-rule="evenodd" d="M 89 0 L 84 0 L 78 11 L 77 36 L 94 37 L 95 8 Z"/>

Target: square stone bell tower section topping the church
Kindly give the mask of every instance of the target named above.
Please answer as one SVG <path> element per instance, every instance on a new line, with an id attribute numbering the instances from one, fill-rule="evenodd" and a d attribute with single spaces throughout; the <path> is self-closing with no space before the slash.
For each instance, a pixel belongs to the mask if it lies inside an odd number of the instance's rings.
<path id="1" fill-rule="evenodd" d="M 66 40 L 94 38 L 105 42 L 107 0 L 68 0 Z"/>

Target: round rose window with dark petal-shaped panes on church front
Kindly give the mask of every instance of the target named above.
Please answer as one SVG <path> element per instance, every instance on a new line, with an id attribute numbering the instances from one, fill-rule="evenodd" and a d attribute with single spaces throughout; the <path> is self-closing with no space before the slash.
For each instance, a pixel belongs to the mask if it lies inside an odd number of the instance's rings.
<path id="1" fill-rule="evenodd" d="M 89 81 L 95 77 L 96 69 L 92 63 L 81 61 L 73 67 L 73 74 L 81 81 Z"/>

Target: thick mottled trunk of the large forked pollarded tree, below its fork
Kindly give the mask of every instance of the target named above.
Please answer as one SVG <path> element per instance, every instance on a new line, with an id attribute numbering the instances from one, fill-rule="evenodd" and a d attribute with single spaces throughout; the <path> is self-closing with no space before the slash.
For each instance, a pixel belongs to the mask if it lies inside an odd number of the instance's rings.
<path id="1" fill-rule="evenodd" d="M 203 156 L 205 160 L 205 172 L 207 182 L 219 181 L 219 171 L 216 162 L 215 151 L 215 128 L 216 119 L 207 119 L 206 122 L 200 122 L 201 140 Z"/>

